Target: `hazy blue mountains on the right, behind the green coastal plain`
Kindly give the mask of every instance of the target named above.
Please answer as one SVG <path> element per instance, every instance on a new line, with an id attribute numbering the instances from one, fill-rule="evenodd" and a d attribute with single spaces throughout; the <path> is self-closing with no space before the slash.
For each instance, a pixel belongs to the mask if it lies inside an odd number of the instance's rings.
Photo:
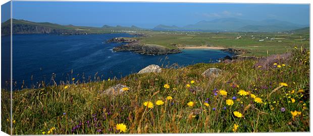
<path id="1" fill-rule="evenodd" d="M 236 18 L 222 18 L 212 21 L 200 21 L 184 27 L 158 25 L 153 30 L 158 31 L 227 31 L 227 32 L 276 32 L 308 27 L 279 20 L 251 21 Z"/>

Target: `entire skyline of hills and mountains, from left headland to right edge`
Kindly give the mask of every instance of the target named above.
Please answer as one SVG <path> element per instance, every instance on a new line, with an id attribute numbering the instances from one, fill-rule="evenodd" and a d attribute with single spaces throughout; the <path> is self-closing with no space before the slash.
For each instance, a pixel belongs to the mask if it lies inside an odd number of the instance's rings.
<path id="1" fill-rule="evenodd" d="M 2 35 L 10 34 L 11 20 L 2 23 Z M 111 32 L 131 32 L 140 30 L 154 31 L 205 31 L 205 32 L 277 32 L 290 31 L 308 27 L 308 25 L 298 25 L 279 20 L 251 21 L 236 18 L 223 18 L 212 21 L 200 21 L 193 25 L 184 27 L 158 25 L 153 29 L 143 29 L 136 26 L 108 26 L 87 27 L 74 25 L 59 25 L 48 22 L 36 23 L 26 20 L 12 19 L 13 34 L 89 34 L 89 33 L 111 33 Z"/>

